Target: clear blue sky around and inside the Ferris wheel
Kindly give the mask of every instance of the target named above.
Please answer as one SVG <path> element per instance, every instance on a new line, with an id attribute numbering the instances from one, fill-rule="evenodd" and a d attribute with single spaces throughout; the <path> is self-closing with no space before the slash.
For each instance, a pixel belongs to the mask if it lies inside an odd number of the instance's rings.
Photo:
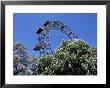
<path id="1" fill-rule="evenodd" d="M 96 13 L 14 13 L 14 42 L 22 42 L 30 55 L 39 56 L 33 51 L 38 42 L 35 33 L 46 20 L 59 20 L 70 27 L 73 32 L 91 46 L 97 46 L 97 14 Z M 58 30 L 50 32 L 51 47 L 54 50 L 62 39 L 69 38 Z"/>

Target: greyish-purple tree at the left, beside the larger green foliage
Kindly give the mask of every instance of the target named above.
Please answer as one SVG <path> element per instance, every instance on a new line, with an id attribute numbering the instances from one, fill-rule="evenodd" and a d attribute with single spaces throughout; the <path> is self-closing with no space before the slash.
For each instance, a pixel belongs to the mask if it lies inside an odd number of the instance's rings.
<path id="1" fill-rule="evenodd" d="M 30 57 L 28 56 L 27 49 L 25 46 L 17 42 L 14 44 L 14 62 L 13 62 L 13 67 L 14 67 L 14 75 L 25 75 L 27 74 L 26 71 L 28 70 L 28 65 L 29 65 L 29 59 Z M 28 70 L 29 71 L 29 70 Z"/>

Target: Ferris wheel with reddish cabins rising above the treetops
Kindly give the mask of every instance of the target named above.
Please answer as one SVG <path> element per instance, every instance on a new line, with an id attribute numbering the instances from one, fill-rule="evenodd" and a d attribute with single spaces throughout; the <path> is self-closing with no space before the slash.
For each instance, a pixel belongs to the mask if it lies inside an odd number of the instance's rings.
<path id="1" fill-rule="evenodd" d="M 38 43 L 34 46 L 33 50 L 40 51 L 40 55 L 53 54 L 50 44 L 49 32 L 53 29 L 60 30 L 65 33 L 70 39 L 78 38 L 72 30 L 58 20 L 47 20 L 36 33 L 39 35 Z"/>

